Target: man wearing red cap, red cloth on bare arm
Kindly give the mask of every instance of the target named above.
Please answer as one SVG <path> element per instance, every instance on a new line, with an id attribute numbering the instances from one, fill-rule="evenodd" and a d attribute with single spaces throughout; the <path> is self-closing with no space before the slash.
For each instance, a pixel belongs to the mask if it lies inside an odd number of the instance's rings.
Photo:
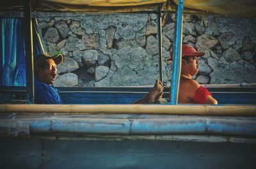
<path id="1" fill-rule="evenodd" d="M 218 104 L 211 92 L 192 79 L 193 75 L 199 71 L 198 57 L 202 57 L 204 54 L 190 45 L 182 45 L 179 103 Z M 172 54 L 168 60 L 172 61 Z"/>

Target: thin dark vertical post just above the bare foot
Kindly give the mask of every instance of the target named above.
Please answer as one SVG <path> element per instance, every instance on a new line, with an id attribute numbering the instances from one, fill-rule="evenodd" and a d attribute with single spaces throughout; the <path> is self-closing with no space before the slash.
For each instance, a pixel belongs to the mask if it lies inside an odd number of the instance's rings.
<path id="1" fill-rule="evenodd" d="M 161 18 L 161 4 L 157 11 L 157 38 L 158 38 L 158 55 L 159 55 L 159 77 L 163 82 L 163 55 L 162 55 L 162 18 Z"/>

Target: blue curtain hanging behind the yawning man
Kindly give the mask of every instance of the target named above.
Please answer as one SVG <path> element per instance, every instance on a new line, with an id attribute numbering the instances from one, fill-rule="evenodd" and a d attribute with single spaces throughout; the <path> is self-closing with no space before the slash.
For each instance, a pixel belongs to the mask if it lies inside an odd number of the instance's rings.
<path id="1" fill-rule="evenodd" d="M 26 86 L 23 18 L 0 18 L 0 86 Z M 34 57 L 45 53 L 42 34 L 33 19 Z"/>

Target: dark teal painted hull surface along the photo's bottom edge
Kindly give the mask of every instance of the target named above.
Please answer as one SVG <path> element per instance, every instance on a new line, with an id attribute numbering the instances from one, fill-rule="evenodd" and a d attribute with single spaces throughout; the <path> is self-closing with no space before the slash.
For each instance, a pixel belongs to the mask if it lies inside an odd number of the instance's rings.
<path id="1" fill-rule="evenodd" d="M 146 140 L 0 140 L 0 168 L 246 168 L 256 145 Z"/>

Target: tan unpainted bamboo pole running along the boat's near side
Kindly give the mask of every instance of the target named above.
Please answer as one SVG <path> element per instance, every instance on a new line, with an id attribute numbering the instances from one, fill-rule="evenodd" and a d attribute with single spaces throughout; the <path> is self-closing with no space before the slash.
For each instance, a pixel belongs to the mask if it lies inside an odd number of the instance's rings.
<path id="1" fill-rule="evenodd" d="M 0 105 L 1 113 L 255 116 L 256 105 Z"/>

